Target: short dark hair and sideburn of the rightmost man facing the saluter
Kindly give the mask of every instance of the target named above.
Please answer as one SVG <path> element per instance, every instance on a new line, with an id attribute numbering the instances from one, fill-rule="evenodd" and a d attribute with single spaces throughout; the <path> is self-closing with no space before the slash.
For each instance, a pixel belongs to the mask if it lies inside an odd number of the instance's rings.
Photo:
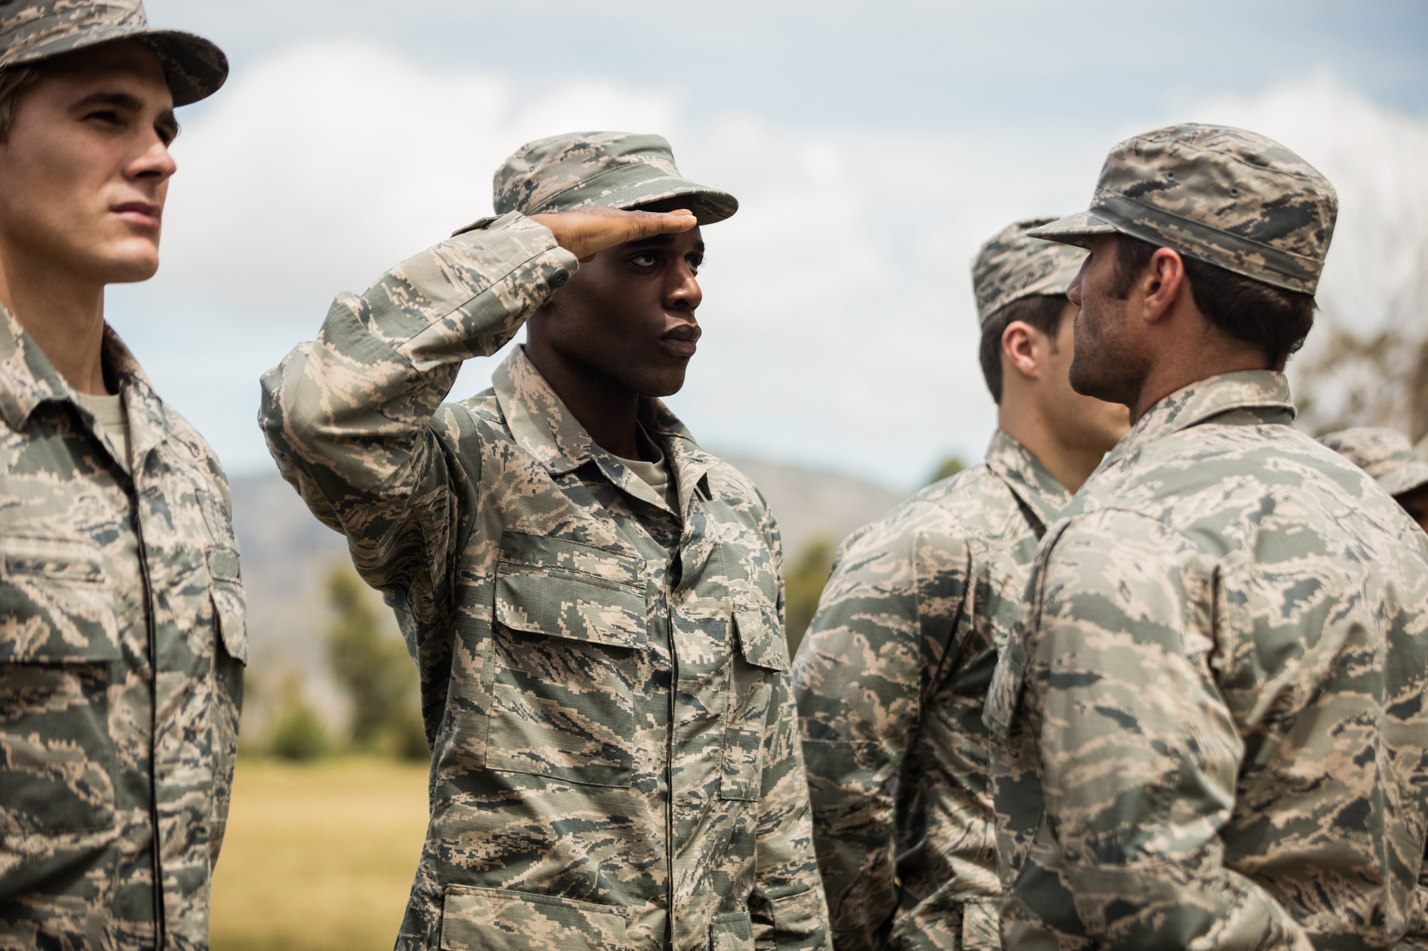
<path id="1" fill-rule="evenodd" d="M 1115 287 L 1125 300 L 1151 263 L 1158 244 L 1128 234 L 1115 236 Z M 1314 327 L 1314 294 L 1272 287 L 1244 274 L 1181 254 L 1195 307 L 1221 333 L 1247 343 L 1282 370 Z"/>

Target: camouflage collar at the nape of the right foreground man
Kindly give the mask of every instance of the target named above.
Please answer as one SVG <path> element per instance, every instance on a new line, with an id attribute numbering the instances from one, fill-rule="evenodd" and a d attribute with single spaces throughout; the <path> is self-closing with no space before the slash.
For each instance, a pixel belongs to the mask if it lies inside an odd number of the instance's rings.
<path id="1" fill-rule="evenodd" d="M 1262 421 L 1284 416 L 1287 423 L 1292 423 L 1297 413 L 1289 381 L 1282 373 L 1241 370 L 1205 377 L 1152 406 L 1115 444 L 1101 468 L 1138 453 L 1148 443 L 1234 410 L 1247 410 Z"/>

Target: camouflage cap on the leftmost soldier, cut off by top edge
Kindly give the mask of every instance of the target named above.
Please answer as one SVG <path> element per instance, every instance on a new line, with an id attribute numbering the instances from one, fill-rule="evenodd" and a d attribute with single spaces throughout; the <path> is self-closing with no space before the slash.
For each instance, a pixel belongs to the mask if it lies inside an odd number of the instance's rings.
<path id="1" fill-rule="evenodd" d="M 137 40 L 159 57 L 174 106 L 218 91 L 228 57 L 191 33 L 154 30 L 140 0 L 0 0 L 0 69 L 111 40 Z"/>

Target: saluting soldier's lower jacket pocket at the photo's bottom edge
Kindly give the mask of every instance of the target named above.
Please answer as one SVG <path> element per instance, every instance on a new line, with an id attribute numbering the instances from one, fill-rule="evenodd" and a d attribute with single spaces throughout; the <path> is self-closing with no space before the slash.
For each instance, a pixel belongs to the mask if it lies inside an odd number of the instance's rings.
<path id="1" fill-rule="evenodd" d="M 614 905 L 508 888 L 450 885 L 441 905 L 443 951 L 618 951 L 625 914 Z"/>

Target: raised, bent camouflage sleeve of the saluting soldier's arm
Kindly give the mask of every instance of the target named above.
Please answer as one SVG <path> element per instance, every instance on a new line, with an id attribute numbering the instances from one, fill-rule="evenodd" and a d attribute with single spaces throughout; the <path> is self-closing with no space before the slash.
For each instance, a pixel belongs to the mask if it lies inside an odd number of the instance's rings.
<path id="1" fill-rule="evenodd" d="M 497 218 L 333 301 L 317 340 L 263 377 L 258 424 L 283 477 L 347 535 L 373 587 L 406 591 L 418 620 L 446 595 L 478 451 L 464 414 L 437 410 L 461 363 L 504 346 L 578 267 L 548 228 Z M 426 617 L 423 617 L 426 615 Z"/>

